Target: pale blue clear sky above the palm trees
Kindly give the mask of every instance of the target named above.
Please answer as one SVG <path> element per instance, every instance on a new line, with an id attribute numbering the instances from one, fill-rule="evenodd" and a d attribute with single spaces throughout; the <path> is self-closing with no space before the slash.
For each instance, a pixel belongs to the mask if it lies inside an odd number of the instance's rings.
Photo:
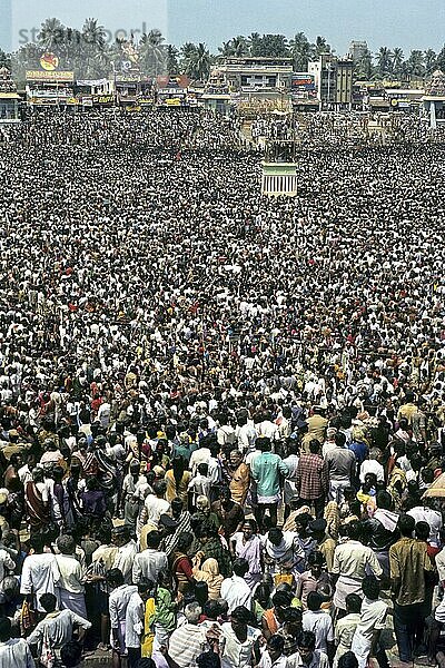
<path id="1" fill-rule="evenodd" d="M 16 49 L 31 40 L 40 23 L 57 16 L 81 27 L 97 18 L 117 30 L 159 28 L 171 43 L 204 41 L 214 52 L 235 35 L 303 31 L 314 41 L 324 36 L 338 55 L 352 39 L 367 40 L 373 51 L 383 45 L 439 50 L 445 41 L 444 0 L 0 0 L 0 47 Z"/>

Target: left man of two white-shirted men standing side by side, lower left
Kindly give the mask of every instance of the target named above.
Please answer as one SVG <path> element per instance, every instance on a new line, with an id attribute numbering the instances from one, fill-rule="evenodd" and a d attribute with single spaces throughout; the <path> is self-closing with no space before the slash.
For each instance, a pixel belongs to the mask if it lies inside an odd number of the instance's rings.
<path id="1" fill-rule="evenodd" d="M 43 553 L 43 540 L 36 534 L 30 539 L 34 553 L 29 554 L 23 561 L 21 573 L 20 593 L 24 593 L 32 602 L 34 610 L 43 612 L 40 606 L 42 593 L 56 593 L 60 581 L 60 571 L 55 554 Z"/>

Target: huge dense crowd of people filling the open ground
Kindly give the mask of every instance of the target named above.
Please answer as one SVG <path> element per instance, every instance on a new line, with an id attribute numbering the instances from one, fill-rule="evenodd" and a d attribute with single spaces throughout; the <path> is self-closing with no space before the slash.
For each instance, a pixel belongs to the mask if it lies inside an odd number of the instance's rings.
<path id="1" fill-rule="evenodd" d="M 442 661 L 445 148 L 320 118 L 3 130 L 2 668 Z"/>

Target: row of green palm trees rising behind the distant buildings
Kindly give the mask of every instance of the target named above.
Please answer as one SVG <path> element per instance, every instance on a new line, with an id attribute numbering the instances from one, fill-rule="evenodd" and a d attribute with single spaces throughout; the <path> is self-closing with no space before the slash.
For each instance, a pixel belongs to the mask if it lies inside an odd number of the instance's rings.
<path id="1" fill-rule="evenodd" d="M 291 39 L 259 32 L 238 35 L 222 42 L 218 53 L 211 53 L 204 42 L 186 42 L 178 48 L 167 43 L 156 29 L 144 33 L 137 42 L 132 36 L 109 41 L 109 35 L 97 19 L 87 19 L 78 30 L 50 18 L 41 24 L 36 42 L 22 45 L 11 55 L 0 49 L 0 67 L 12 67 L 14 76 L 22 79 L 27 69 L 38 66 L 44 50 L 55 52 L 63 69 L 76 71 L 78 78 L 96 79 L 109 76 L 112 70 L 125 71 L 137 66 L 149 77 L 187 73 L 192 80 L 205 81 L 221 56 L 291 58 L 294 70 L 303 72 L 320 53 L 335 52 L 324 37 L 310 42 L 304 32 L 296 32 Z M 135 46 L 132 51 L 129 42 Z M 364 49 L 355 61 L 355 77 L 366 80 L 390 78 L 409 82 L 427 78 L 436 69 L 445 70 L 445 45 L 437 53 L 433 49 L 413 49 L 405 55 L 398 47 L 385 46 L 375 53 Z"/>

